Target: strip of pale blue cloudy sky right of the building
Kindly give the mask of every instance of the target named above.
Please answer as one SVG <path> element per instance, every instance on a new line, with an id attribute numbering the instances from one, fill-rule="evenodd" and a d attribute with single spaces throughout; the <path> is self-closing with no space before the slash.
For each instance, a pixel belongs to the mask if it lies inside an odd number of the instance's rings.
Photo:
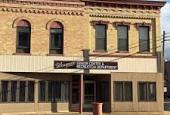
<path id="1" fill-rule="evenodd" d="M 161 9 L 161 31 L 165 31 L 166 39 L 169 39 L 165 42 L 165 60 L 170 61 L 170 0 L 166 1 Z"/>

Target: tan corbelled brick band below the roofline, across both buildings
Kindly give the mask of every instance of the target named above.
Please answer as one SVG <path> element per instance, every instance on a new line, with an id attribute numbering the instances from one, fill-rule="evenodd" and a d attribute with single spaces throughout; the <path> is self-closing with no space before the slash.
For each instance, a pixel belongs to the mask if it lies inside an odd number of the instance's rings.
<path id="1" fill-rule="evenodd" d="M 35 2 L 31 0 L 22 0 L 22 1 L 9 1 L 3 3 L 0 6 L 0 11 L 4 12 L 21 12 L 21 13 L 35 13 L 35 14 L 54 14 L 54 15 L 78 15 L 83 16 L 85 13 L 91 17 L 122 17 L 122 18 L 137 18 L 137 19 L 150 19 L 155 18 L 155 16 L 160 14 L 159 10 L 139 10 L 133 9 L 132 7 L 128 8 L 107 8 L 107 7 L 85 7 L 83 2 L 62 2 L 62 1 L 53 1 L 53 2 Z M 88 1 L 88 0 L 87 0 Z M 92 0 L 94 1 L 94 0 Z M 115 0 L 116 1 L 116 0 Z M 1 1 L 2 2 L 2 1 Z M 0 3 L 1 3 L 0 2 Z M 16 5 L 17 4 L 17 5 Z M 21 5 L 23 4 L 23 5 Z M 31 5 L 30 5 L 31 4 Z M 47 6 L 47 7 L 45 7 Z M 53 6 L 53 7 L 48 7 Z M 63 7 L 62 7 L 63 6 Z M 72 7 L 72 8 L 64 8 Z M 131 13 L 128 15 L 128 13 Z M 120 16 L 121 14 L 121 16 Z M 136 16 L 141 15 L 141 16 Z M 145 15 L 145 16 L 144 16 Z"/>

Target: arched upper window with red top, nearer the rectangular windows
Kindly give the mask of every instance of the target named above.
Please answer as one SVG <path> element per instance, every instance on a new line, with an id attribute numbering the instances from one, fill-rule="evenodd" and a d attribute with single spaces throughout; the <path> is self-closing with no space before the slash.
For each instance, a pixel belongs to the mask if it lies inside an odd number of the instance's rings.
<path id="1" fill-rule="evenodd" d="M 50 54 L 63 54 L 63 25 L 59 22 L 50 25 Z"/>

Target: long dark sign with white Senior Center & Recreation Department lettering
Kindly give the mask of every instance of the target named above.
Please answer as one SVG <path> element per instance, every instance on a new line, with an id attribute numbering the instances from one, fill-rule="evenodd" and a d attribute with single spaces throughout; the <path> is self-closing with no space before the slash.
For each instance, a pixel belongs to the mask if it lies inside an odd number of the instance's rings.
<path id="1" fill-rule="evenodd" d="M 117 62 L 101 61 L 54 61 L 54 69 L 104 69 L 117 70 Z"/>

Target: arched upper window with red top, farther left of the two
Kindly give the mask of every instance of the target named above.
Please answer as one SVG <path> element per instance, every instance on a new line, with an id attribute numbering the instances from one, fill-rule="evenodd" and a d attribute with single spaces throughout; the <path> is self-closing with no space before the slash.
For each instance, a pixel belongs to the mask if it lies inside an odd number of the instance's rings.
<path id="1" fill-rule="evenodd" d="M 20 20 L 17 24 L 17 53 L 30 53 L 31 24 Z"/>

